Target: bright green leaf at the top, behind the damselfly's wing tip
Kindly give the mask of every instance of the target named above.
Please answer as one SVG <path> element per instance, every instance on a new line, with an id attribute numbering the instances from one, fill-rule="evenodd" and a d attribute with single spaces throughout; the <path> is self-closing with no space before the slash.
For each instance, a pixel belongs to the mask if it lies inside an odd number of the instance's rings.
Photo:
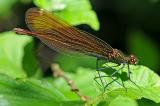
<path id="1" fill-rule="evenodd" d="M 71 25 L 88 24 L 99 30 L 99 22 L 89 0 L 34 0 L 34 3 L 40 8 L 55 11 Z"/>

